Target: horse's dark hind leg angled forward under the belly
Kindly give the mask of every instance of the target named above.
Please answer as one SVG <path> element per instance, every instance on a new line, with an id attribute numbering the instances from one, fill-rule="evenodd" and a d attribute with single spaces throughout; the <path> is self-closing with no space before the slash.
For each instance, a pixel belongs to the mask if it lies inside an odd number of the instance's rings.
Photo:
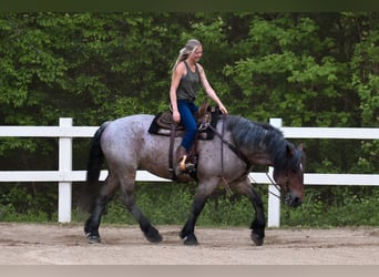
<path id="1" fill-rule="evenodd" d="M 133 181 L 131 181 L 133 179 Z M 125 178 L 121 181 L 122 187 L 122 201 L 125 204 L 126 208 L 132 213 L 134 218 L 139 222 L 140 228 L 143 232 L 144 236 L 151 243 L 160 243 L 162 242 L 162 236 L 156 228 L 150 223 L 150 220 L 142 214 L 141 209 L 136 205 L 135 199 L 135 183 L 134 178 Z"/>

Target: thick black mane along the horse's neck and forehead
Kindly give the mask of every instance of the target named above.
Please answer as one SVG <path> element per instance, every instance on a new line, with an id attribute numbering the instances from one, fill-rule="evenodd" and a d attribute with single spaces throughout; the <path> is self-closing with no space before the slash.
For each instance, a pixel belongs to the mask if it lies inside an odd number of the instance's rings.
<path id="1" fill-rule="evenodd" d="M 265 147 L 275 167 L 296 168 L 301 158 L 301 153 L 295 151 L 295 145 L 284 138 L 281 131 L 268 123 L 253 122 L 238 115 L 228 115 L 226 130 L 231 132 L 233 142 L 237 147 L 252 152 Z M 294 150 L 294 156 L 290 160 L 287 156 L 287 146 Z"/>

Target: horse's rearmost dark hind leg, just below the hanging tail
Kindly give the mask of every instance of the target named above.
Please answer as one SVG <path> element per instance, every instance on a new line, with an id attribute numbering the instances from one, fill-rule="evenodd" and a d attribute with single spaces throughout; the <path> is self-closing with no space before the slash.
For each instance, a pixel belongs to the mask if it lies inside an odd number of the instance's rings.
<path id="1" fill-rule="evenodd" d="M 112 198 L 117 185 L 119 183 L 115 177 L 107 176 L 104 185 L 100 188 L 91 216 L 86 219 L 84 225 L 84 233 L 90 244 L 101 242 L 99 233 L 101 216 L 105 209 L 106 203 Z"/>

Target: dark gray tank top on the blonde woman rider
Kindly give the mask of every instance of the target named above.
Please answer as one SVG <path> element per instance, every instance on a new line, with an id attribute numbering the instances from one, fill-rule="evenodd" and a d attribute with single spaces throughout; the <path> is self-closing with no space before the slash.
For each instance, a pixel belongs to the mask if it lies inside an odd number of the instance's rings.
<path id="1" fill-rule="evenodd" d="M 195 72 L 191 71 L 186 61 L 184 61 L 184 64 L 187 70 L 187 74 L 185 74 L 181 79 L 181 82 L 176 91 L 176 99 L 194 102 L 196 99 L 197 91 L 198 91 L 199 72 L 197 69 L 197 64 L 195 66 Z"/>

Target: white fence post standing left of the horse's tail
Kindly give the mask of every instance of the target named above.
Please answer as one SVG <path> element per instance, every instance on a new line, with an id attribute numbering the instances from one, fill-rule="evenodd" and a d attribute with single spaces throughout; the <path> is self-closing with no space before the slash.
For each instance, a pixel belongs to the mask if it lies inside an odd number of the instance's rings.
<path id="1" fill-rule="evenodd" d="M 60 117 L 59 125 L 61 127 L 72 126 L 71 117 Z M 72 171 L 72 137 L 59 137 L 59 172 L 63 176 L 64 172 Z M 59 182 L 58 192 L 58 222 L 71 222 L 71 201 L 72 201 L 72 183 Z"/>

